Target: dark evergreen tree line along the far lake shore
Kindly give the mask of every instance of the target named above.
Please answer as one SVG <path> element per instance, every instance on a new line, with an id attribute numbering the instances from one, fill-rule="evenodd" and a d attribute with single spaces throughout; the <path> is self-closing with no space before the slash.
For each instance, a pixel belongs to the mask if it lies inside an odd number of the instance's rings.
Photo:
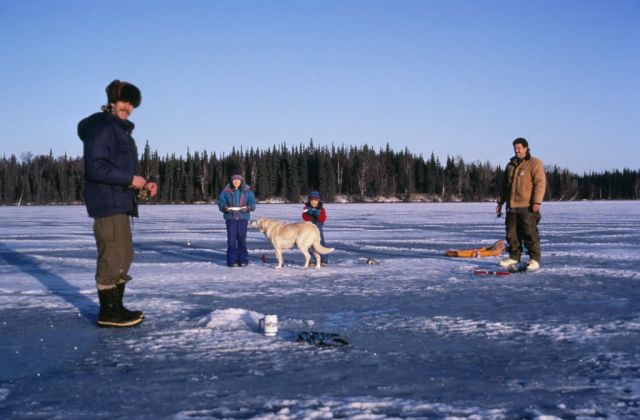
<path id="1" fill-rule="evenodd" d="M 289 147 L 187 152 L 161 157 L 147 142 L 140 173 L 158 182 L 157 203 L 211 202 L 233 173 L 241 172 L 258 200 L 300 202 L 310 190 L 323 201 L 487 201 L 495 200 L 503 168 L 447 156 L 441 162 L 408 149 L 364 146 Z M 578 175 L 545 168 L 546 200 L 629 200 L 640 198 L 640 173 L 623 169 Z M 0 159 L 0 204 L 76 204 L 83 201 L 81 157 L 24 154 Z"/>

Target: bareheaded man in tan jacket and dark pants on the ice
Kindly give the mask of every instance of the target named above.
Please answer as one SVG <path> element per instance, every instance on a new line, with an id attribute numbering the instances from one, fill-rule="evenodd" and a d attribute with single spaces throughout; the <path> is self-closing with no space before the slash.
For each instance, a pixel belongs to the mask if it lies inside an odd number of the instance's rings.
<path id="1" fill-rule="evenodd" d="M 540 207 L 544 198 L 546 178 L 540 159 L 531 156 L 529 143 L 518 137 L 513 141 L 515 156 L 504 171 L 504 182 L 496 212 L 502 212 L 507 204 L 506 231 L 509 258 L 500 261 L 503 267 L 520 263 L 523 243 L 529 252 L 527 271 L 540 268 Z"/>

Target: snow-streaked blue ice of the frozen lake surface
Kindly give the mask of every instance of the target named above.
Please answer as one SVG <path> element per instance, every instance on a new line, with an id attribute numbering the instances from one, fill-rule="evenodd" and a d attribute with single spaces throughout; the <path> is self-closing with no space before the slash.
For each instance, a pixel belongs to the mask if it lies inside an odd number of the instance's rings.
<path id="1" fill-rule="evenodd" d="M 1 207 L 0 418 L 640 417 L 640 202 L 545 203 L 542 269 L 504 277 L 444 255 L 504 236 L 492 203 L 326 207 L 320 270 L 257 230 L 228 268 L 214 205 L 141 207 L 132 329 L 95 325 L 84 207 Z"/>

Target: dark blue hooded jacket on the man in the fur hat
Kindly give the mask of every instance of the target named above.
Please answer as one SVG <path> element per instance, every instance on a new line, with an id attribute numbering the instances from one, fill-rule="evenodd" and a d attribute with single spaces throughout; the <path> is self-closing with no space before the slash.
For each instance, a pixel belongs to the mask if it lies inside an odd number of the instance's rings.
<path id="1" fill-rule="evenodd" d="M 91 217 L 138 216 L 136 190 L 129 188 L 138 167 L 135 125 L 110 112 L 98 112 L 78 124 L 84 143 L 84 199 Z"/>

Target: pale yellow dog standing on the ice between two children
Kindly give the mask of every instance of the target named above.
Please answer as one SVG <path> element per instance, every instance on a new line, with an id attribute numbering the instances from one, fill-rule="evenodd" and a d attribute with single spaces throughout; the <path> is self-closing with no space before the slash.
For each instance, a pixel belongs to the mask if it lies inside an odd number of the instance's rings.
<path id="1" fill-rule="evenodd" d="M 293 248 L 294 245 L 297 245 L 300 252 L 304 254 L 305 269 L 309 268 L 311 260 L 309 248 L 313 247 L 316 268 L 320 268 L 320 254 L 333 252 L 333 248 L 325 248 L 320 245 L 320 231 L 311 222 L 284 223 L 268 217 L 259 217 L 251 222 L 251 226 L 258 228 L 271 241 L 278 259 L 276 268 L 284 266 L 282 251 Z"/>

